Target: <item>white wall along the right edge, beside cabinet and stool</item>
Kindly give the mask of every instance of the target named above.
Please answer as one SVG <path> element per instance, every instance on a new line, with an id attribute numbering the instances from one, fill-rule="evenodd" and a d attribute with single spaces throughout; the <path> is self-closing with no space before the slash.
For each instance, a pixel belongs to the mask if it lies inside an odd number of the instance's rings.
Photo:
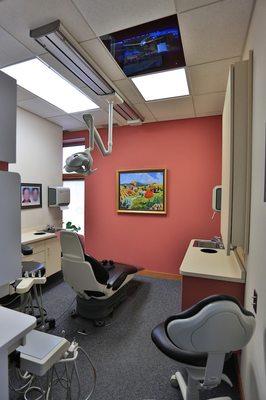
<path id="1" fill-rule="evenodd" d="M 250 253 L 247 263 L 246 307 L 252 310 L 258 292 L 255 335 L 241 361 L 246 400 L 266 399 L 266 203 L 264 203 L 266 122 L 266 0 L 257 0 L 244 51 L 254 51 L 252 203 Z"/>

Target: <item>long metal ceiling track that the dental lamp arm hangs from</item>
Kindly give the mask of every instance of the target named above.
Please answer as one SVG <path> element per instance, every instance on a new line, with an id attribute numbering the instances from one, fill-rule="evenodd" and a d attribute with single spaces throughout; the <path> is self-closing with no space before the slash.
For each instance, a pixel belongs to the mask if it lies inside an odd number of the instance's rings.
<path id="1" fill-rule="evenodd" d="M 64 28 L 60 20 L 53 21 L 30 31 L 30 37 L 39 43 L 46 52 L 56 58 L 65 68 L 98 96 L 115 94 L 112 83 L 102 76 L 88 54 Z M 114 110 L 125 120 L 144 118 L 126 101 L 114 103 Z"/>

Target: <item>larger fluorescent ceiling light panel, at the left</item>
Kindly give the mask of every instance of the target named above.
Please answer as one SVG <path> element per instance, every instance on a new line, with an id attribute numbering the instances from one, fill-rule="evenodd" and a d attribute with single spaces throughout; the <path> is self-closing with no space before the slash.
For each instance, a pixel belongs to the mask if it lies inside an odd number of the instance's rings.
<path id="1" fill-rule="evenodd" d="M 16 79 L 19 86 L 68 114 L 99 108 L 85 94 L 37 58 L 5 67 L 2 71 Z"/>

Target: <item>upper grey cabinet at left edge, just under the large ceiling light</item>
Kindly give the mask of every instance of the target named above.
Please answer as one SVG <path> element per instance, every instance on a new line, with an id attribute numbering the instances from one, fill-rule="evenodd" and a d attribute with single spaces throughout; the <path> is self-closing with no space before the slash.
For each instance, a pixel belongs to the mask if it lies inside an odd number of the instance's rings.
<path id="1" fill-rule="evenodd" d="M 17 84 L 0 71 L 0 161 L 16 162 Z"/>

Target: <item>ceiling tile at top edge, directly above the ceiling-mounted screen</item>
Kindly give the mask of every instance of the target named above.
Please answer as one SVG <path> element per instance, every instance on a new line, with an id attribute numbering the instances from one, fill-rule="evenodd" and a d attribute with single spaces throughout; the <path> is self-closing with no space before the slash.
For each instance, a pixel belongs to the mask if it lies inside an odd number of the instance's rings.
<path id="1" fill-rule="evenodd" d="M 97 36 L 175 14 L 173 0 L 73 0 Z"/>

